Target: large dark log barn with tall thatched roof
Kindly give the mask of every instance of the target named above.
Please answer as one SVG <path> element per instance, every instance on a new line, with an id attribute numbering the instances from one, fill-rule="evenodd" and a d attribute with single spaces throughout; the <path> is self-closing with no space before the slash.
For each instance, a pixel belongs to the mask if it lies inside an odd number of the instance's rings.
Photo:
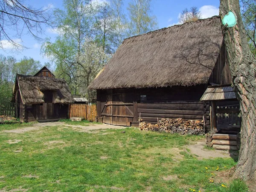
<path id="1" fill-rule="evenodd" d="M 200 98 L 210 84 L 230 84 L 220 17 L 125 39 L 92 81 L 99 121 L 138 125 L 139 118 L 204 120 L 209 105 Z"/>

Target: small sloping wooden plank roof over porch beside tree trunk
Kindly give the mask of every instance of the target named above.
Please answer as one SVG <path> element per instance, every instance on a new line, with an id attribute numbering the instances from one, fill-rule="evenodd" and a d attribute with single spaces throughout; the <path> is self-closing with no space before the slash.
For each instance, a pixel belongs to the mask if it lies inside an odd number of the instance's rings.
<path id="1" fill-rule="evenodd" d="M 236 99 L 233 87 L 230 85 L 212 85 L 207 88 L 200 101 L 213 101 L 224 99 Z"/>

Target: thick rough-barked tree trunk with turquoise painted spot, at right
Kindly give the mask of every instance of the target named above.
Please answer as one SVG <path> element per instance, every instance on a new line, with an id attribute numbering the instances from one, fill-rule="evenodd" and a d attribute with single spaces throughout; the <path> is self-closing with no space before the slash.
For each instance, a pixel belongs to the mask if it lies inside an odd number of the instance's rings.
<path id="1" fill-rule="evenodd" d="M 237 16 L 237 24 L 233 27 L 222 25 L 222 31 L 242 116 L 241 149 L 234 176 L 256 180 L 256 59 L 247 44 L 239 0 L 221 0 L 221 19 L 229 11 Z"/>

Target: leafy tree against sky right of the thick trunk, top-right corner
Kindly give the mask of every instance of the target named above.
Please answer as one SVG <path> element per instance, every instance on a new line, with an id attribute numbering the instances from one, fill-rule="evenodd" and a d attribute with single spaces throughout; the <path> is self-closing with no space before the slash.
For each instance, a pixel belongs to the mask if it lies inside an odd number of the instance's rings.
<path id="1" fill-rule="evenodd" d="M 248 43 L 253 55 L 256 55 L 256 0 L 241 0 L 241 13 Z"/>

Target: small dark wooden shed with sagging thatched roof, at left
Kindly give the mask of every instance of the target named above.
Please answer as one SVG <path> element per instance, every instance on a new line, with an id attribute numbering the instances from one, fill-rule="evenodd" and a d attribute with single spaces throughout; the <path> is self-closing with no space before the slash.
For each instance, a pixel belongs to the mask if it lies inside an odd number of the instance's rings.
<path id="1" fill-rule="evenodd" d="M 45 121 L 66 119 L 73 97 L 64 79 L 17 74 L 12 102 L 18 104 L 17 116 L 21 121 Z"/>

